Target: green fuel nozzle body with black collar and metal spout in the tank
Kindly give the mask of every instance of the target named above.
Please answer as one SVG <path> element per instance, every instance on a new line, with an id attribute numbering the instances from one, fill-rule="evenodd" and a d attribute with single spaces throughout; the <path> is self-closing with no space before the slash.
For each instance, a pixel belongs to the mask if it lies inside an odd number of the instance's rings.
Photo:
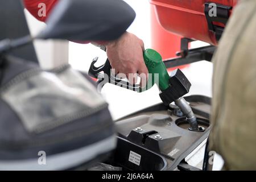
<path id="1" fill-rule="evenodd" d="M 180 108 L 186 117 L 187 122 L 190 124 L 189 130 L 202 131 L 197 124 L 195 114 L 193 113 L 188 102 L 185 101 L 183 96 L 189 92 L 191 83 L 185 77 L 180 69 L 176 69 L 169 76 L 166 66 L 163 63 L 162 56 L 154 49 L 146 49 L 143 53 L 144 61 L 151 73 L 152 82 L 156 82 L 154 73 L 158 73 L 158 84 L 161 93 L 159 94 L 164 105 L 169 106 L 172 102 Z"/>

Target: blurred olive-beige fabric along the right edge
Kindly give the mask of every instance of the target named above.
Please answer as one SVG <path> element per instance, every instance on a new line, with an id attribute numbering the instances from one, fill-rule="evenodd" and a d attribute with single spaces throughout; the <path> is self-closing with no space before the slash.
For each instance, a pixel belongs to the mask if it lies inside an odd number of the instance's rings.
<path id="1" fill-rule="evenodd" d="M 256 169 L 256 1 L 240 1 L 213 57 L 210 150 L 225 169 Z"/>

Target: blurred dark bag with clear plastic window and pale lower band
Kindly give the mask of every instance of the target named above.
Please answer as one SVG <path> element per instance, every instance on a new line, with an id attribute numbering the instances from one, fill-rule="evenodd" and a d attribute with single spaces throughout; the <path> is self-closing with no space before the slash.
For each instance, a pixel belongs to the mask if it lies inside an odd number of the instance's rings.
<path id="1" fill-rule="evenodd" d="M 81 73 L 2 58 L 0 170 L 62 170 L 115 148 L 108 104 Z"/>

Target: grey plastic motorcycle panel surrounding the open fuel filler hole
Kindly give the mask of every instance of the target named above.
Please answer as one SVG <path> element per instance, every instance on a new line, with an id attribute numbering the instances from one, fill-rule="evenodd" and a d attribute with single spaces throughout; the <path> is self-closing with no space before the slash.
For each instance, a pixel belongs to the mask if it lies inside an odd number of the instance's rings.
<path id="1" fill-rule="evenodd" d="M 158 104 L 116 121 L 119 135 L 132 143 L 164 156 L 168 163 L 168 170 L 174 170 L 181 160 L 208 138 L 211 127 L 208 120 L 210 98 L 188 96 L 185 99 L 190 103 L 196 117 L 203 121 L 199 122 L 199 125 L 205 127 L 204 132 L 189 131 L 178 125 L 178 119 L 184 117 L 177 117 L 170 107 Z M 137 127 L 142 130 L 136 130 Z M 162 138 L 156 139 L 156 135 L 160 135 Z"/>

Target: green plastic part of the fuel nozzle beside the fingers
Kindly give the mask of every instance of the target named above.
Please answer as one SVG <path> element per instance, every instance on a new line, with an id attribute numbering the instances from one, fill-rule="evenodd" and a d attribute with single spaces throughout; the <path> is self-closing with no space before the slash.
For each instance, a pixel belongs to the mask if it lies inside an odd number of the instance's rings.
<path id="1" fill-rule="evenodd" d="M 169 74 L 164 65 L 162 56 L 154 49 L 146 49 L 143 53 L 144 61 L 151 75 L 148 77 L 147 89 L 149 89 L 156 82 L 155 73 L 158 74 L 158 86 L 160 90 L 166 90 L 169 87 Z M 149 85 L 149 86 L 148 86 Z"/>

